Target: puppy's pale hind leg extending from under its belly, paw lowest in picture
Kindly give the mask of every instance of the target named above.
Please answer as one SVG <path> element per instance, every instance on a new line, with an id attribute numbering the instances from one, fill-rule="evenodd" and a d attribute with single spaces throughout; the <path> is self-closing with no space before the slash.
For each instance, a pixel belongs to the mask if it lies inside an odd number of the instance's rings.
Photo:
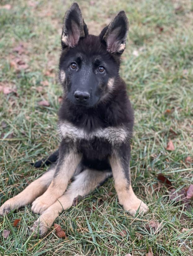
<path id="1" fill-rule="evenodd" d="M 75 180 L 71 183 L 69 189 L 58 198 L 42 215 L 34 222 L 32 231 L 36 231 L 39 235 L 43 236 L 52 223 L 59 216 L 59 214 L 70 208 L 73 205 L 74 198 L 88 195 L 97 186 L 101 185 L 105 180 L 112 175 L 111 171 L 96 171 L 86 169 L 79 173 Z"/>

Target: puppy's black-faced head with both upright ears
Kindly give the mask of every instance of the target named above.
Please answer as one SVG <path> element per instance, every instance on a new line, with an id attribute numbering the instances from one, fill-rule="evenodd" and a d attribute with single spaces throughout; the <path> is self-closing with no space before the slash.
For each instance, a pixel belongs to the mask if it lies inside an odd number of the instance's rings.
<path id="1" fill-rule="evenodd" d="M 128 19 L 124 11 L 99 36 L 89 35 L 77 3 L 65 13 L 59 79 L 65 98 L 92 108 L 114 91 L 120 56 L 125 49 Z"/>

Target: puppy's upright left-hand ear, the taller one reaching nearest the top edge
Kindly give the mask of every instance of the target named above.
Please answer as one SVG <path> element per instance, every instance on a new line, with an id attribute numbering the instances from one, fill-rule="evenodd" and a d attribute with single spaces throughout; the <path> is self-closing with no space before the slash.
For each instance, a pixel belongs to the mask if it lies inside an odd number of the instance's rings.
<path id="1" fill-rule="evenodd" d="M 62 48 L 74 47 L 81 37 L 88 35 L 79 5 L 73 3 L 64 16 L 61 44 Z"/>

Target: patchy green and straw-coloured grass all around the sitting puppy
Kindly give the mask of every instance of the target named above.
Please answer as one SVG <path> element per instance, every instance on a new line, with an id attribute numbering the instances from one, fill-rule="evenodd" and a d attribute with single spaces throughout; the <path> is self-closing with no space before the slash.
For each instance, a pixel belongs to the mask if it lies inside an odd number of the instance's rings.
<path id="1" fill-rule="evenodd" d="M 130 32 L 123 53 L 121 76 L 135 110 L 132 139 L 132 186 L 149 205 L 143 217 L 130 217 L 119 205 L 113 180 L 56 219 L 67 239 L 48 235 L 34 238 L 29 227 L 38 217 L 30 206 L 0 217 L 0 255 L 192 255 L 193 211 L 168 200 L 169 190 L 157 174 L 167 175 L 176 189 L 193 181 L 193 3 L 192 1 L 78 1 L 90 33 L 98 34 L 120 10 L 125 10 Z M 62 18 L 70 1 L 1 1 L 0 83 L 16 87 L 0 92 L 1 204 L 22 191 L 46 168 L 30 162 L 53 152 L 60 143 L 57 112 L 62 89 L 57 78 Z M 24 44 L 24 52 L 13 52 Z M 10 61 L 28 64 L 16 71 Z M 41 82 L 47 81 L 48 86 Z M 42 86 L 43 91 L 37 88 Z M 39 106 L 47 100 L 50 106 Z M 169 112 L 170 111 L 170 112 Z M 4 127 L 6 124 L 6 127 Z M 172 130 L 175 132 L 171 132 Z M 173 141 L 175 150 L 166 150 Z M 18 227 L 15 219 L 21 218 Z M 148 232 L 150 220 L 159 228 Z M 7 239 L 2 230 L 10 230 Z M 125 235 L 120 232 L 124 230 Z"/>

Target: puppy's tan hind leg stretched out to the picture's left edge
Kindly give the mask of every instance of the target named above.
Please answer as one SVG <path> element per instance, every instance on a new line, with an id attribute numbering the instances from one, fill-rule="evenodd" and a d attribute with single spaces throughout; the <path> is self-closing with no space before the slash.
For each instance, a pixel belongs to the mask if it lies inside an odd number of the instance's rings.
<path id="1" fill-rule="evenodd" d="M 29 186 L 27 186 L 22 192 L 2 204 L 0 207 L 0 215 L 3 216 L 11 210 L 30 204 L 36 199 L 36 197 L 42 195 L 50 185 L 55 171 L 56 165 L 52 165 L 46 173 L 29 184 Z"/>

